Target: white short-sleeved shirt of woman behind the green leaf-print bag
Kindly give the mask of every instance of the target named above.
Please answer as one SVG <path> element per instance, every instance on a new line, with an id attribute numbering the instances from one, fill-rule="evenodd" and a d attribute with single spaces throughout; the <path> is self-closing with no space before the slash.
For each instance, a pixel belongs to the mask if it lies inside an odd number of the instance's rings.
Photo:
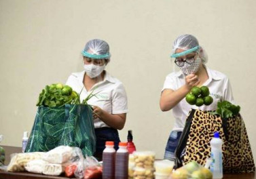
<path id="1" fill-rule="evenodd" d="M 87 91 L 83 83 L 84 74 L 85 71 L 72 73 L 66 83 L 66 85 L 72 87 L 78 94 L 81 92 L 81 102 L 92 93 L 96 95 L 88 100 L 88 104 L 98 106 L 109 114 L 128 113 L 126 91 L 121 81 L 112 77 L 105 71 L 105 79 L 96 83 Z M 94 127 L 100 128 L 109 126 L 100 119 L 94 119 Z"/>

